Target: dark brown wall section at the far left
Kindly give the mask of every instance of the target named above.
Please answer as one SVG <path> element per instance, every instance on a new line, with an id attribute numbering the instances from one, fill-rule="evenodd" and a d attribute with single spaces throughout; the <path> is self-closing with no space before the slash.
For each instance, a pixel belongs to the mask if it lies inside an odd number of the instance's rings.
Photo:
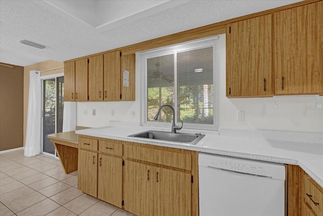
<path id="1" fill-rule="evenodd" d="M 24 68 L 0 66 L 0 151 L 23 147 Z"/>

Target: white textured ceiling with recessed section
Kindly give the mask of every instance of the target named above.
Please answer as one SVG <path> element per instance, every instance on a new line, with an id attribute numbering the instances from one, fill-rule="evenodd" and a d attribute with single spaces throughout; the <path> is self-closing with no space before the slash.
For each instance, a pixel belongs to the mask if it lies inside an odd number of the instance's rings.
<path id="1" fill-rule="evenodd" d="M 0 62 L 65 61 L 295 2 L 0 0 Z"/>

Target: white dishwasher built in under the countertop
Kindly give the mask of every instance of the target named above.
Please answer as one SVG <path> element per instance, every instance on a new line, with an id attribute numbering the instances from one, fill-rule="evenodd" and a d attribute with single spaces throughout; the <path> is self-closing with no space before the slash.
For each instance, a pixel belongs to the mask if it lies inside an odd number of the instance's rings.
<path id="1" fill-rule="evenodd" d="M 199 153 L 200 216 L 285 215 L 285 165 Z"/>

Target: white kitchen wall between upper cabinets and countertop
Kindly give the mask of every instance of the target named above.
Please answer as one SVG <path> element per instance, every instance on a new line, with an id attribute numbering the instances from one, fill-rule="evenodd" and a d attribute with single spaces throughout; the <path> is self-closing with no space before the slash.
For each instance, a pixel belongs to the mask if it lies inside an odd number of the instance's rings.
<path id="1" fill-rule="evenodd" d="M 323 109 L 317 109 L 314 97 L 234 98 L 226 97 L 226 38 L 220 35 L 220 127 L 269 129 L 323 133 Z M 323 103 L 323 97 L 319 97 Z M 84 115 L 84 109 L 88 115 Z M 92 109 L 96 115 L 92 116 Z M 115 109 L 115 116 L 111 116 Z M 132 117 L 134 110 L 136 116 Z M 237 121 L 237 112 L 245 112 L 245 121 Z M 77 103 L 77 125 L 99 127 L 109 125 L 109 120 L 140 122 L 140 61 L 136 55 L 136 101 L 134 102 L 83 102 Z"/>

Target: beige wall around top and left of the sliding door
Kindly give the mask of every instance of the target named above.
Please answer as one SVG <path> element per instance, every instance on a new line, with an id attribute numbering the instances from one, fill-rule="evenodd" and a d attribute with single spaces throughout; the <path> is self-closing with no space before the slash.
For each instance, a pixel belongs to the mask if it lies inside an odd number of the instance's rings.
<path id="1" fill-rule="evenodd" d="M 27 109 L 28 109 L 28 97 L 29 97 L 29 71 L 31 70 L 48 70 L 40 73 L 40 76 L 63 73 L 64 68 L 49 70 L 57 67 L 64 66 L 63 62 L 48 60 L 44 62 L 39 62 L 36 64 L 28 65 L 24 67 L 24 137 L 23 144 L 25 146 L 26 142 L 26 130 L 27 130 Z"/>

